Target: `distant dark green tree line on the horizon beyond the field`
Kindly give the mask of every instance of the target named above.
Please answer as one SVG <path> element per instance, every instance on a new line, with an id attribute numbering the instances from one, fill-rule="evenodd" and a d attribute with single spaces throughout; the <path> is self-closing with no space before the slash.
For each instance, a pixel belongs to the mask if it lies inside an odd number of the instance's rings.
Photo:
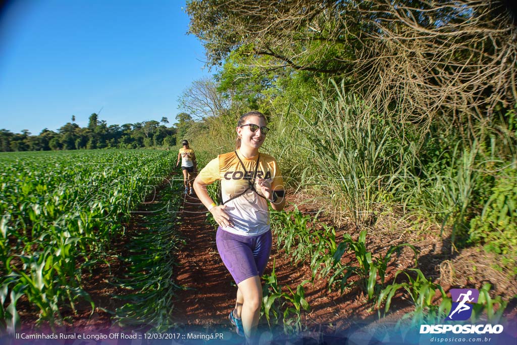
<path id="1" fill-rule="evenodd" d="M 174 146 L 184 139 L 193 122 L 187 113 L 180 113 L 176 118 L 178 122 L 171 127 L 167 126 L 169 120 L 165 116 L 160 121 L 108 125 L 93 113 L 86 127 L 80 127 L 72 116 L 72 121 L 57 131 L 44 128 L 38 135 L 32 135 L 26 129 L 13 133 L 2 128 L 0 152 Z"/>

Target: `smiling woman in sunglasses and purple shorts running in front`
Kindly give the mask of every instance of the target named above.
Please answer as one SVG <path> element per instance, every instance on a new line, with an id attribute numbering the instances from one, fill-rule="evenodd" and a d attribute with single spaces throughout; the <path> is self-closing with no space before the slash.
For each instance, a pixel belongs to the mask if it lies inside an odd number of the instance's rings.
<path id="1" fill-rule="evenodd" d="M 284 187 L 275 158 L 259 153 L 269 128 L 256 111 L 242 115 L 237 124 L 236 150 L 219 155 L 194 181 L 197 197 L 219 224 L 217 250 L 237 283 L 230 321 L 237 334 L 253 342 L 262 305 L 262 284 L 271 251 L 268 204 L 284 208 Z M 210 199 L 206 185 L 221 181 L 221 205 Z"/>

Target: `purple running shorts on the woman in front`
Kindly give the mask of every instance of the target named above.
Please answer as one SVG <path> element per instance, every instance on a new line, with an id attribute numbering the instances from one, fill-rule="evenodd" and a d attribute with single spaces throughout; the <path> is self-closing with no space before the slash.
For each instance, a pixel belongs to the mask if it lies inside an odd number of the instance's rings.
<path id="1" fill-rule="evenodd" d="M 241 236 L 217 229 L 217 251 L 237 284 L 261 277 L 271 253 L 271 231 L 258 236 Z"/>

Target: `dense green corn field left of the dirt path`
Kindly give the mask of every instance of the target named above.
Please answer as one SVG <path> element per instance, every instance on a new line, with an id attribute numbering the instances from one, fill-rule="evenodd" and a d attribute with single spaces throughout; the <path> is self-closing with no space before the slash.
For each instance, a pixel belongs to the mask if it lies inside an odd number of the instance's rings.
<path id="1" fill-rule="evenodd" d="M 76 151 L 0 156 L 0 322 L 19 325 L 22 296 L 40 320 L 86 300 L 82 273 L 125 231 L 135 205 L 173 166 L 168 151 Z M 6 306 L 6 307 L 5 307 Z"/>

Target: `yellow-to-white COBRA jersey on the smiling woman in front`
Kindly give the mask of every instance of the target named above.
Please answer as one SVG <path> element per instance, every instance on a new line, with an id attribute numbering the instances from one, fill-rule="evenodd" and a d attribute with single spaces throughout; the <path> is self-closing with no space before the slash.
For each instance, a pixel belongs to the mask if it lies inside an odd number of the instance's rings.
<path id="1" fill-rule="evenodd" d="M 238 153 L 238 151 L 237 151 Z M 260 154 L 260 157 L 246 158 L 238 153 L 230 152 L 217 156 L 211 160 L 199 173 L 199 178 L 205 184 L 221 180 L 221 193 L 226 213 L 234 227 L 224 227 L 223 230 L 237 235 L 256 236 L 269 231 L 268 201 L 257 195 L 261 192 L 260 186 L 253 181 L 256 169 L 256 178 L 271 178 L 271 189 L 284 191 L 284 183 L 275 158 Z M 244 164 L 244 168 L 239 162 Z M 258 158 L 258 165 L 257 165 Z M 250 184 L 253 183 L 253 191 Z M 245 192 L 246 191 L 246 192 Z M 242 192 L 241 196 L 232 199 Z"/>

